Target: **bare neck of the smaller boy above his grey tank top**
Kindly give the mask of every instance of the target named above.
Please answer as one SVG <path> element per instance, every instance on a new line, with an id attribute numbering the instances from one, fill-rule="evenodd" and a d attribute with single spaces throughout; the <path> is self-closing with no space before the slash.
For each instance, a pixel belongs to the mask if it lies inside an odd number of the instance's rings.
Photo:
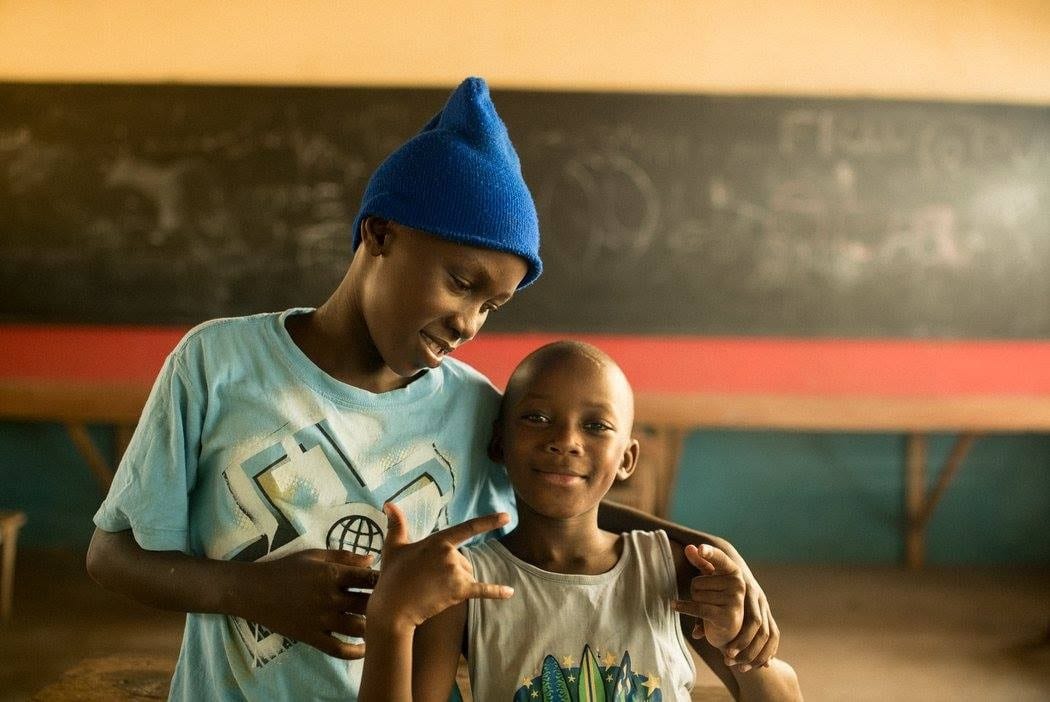
<path id="1" fill-rule="evenodd" d="M 556 518 L 533 512 L 519 501 L 518 527 L 500 539 L 510 553 L 551 573 L 598 575 L 612 570 L 623 537 L 597 527 L 597 510 Z"/>

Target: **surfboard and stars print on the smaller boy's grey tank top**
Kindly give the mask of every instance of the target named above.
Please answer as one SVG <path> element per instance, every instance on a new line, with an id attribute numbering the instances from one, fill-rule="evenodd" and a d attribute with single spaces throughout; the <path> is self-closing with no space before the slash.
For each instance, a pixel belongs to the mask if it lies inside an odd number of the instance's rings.
<path id="1" fill-rule="evenodd" d="M 601 654 L 601 651 L 598 651 Z M 561 659 L 544 657 L 540 668 L 522 677 L 513 702 L 662 702 L 660 680 L 655 673 L 631 669 L 631 654 L 620 658 L 612 651 L 597 656 L 589 644 L 580 654 Z"/>

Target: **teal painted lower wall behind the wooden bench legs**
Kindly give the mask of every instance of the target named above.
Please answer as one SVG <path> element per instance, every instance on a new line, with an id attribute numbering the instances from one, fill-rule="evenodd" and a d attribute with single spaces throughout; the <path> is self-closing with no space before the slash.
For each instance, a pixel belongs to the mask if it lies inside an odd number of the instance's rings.
<path id="1" fill-rule="evenodd" d="M 92 434 L 107 455 L 109 433 Z M 933 437 L 940 467 L 951 437 Z M 57 424 L 0 423 L 0 509 L 29 516 L 21 544 L 83 548 L 102 492 Z M 682 451 L 672 517 L 756 562 L 898 562 L 904 439 L 698 431 Z M 930 484 L 936 480 L 930 469 Z M 931 563 L 1050 563 L 1050 437 L 976 442 L 933 514 Z"/>

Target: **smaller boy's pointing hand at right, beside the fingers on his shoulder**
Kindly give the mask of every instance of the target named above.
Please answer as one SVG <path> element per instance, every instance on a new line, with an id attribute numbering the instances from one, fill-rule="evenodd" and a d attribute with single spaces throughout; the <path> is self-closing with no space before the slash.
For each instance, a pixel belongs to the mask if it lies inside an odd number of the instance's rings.
<path id="1" fill-rule="evenodd" d="M 690 599 L 674 600 L 673 607 L 697 618 L 694 638 L 706 637 L 724 653 L 743 623 L 746 588 L 740 568 L 712 546 L 687 546 L 686 558 L 700 574 L 690 581 Z"/>

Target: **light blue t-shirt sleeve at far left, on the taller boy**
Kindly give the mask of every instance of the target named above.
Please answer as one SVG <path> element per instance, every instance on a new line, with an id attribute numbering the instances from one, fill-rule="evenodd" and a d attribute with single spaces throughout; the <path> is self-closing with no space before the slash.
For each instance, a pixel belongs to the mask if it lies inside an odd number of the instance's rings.
<path id="1" fill-rule="evenodd" d="M 94 525 L 131 529 L 149 551 L 189 549 L 188 495 L 196 478 L 202 391 L 188 380 L 181 347 L 165 361 Z"/>

